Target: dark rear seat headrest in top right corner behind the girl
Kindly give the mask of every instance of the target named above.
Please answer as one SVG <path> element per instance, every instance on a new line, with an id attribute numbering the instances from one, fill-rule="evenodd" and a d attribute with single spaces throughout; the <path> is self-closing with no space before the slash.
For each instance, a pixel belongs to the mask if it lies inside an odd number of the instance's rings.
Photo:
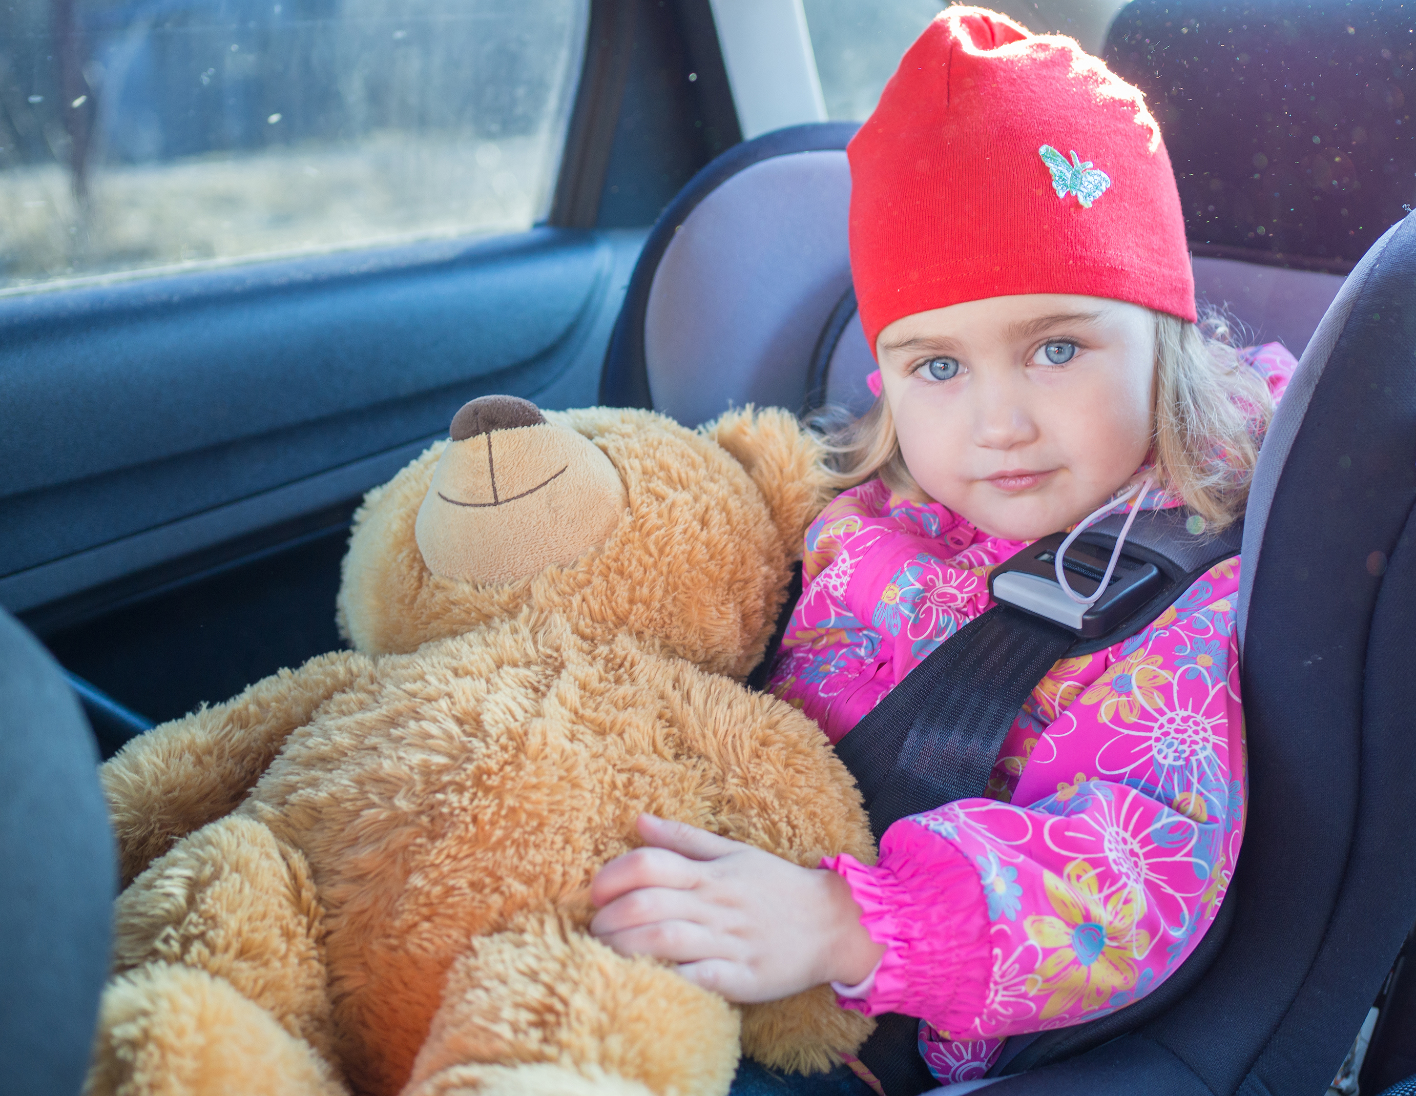
<path id="1" fill-rule="evenodd" d="M 1400 219 L 1416 201 L 1412 25 L 1381 0 L 1121 8 L 1104 58 L 1160 122 L 1197 255 L 1345 272 Z"/>

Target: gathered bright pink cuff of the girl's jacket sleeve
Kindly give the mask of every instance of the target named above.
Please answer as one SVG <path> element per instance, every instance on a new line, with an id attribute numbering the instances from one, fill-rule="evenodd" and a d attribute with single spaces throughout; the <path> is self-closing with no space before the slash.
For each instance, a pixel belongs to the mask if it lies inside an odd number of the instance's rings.
<path id="1" fill-rule="evenodd" d="M 848 994 L 838 988 L 841 1007 L 902 1012 L 952 1038 L 966 1035 L 984 1011 L 993 971 L 983 885 L 967 857 L 906 818 L 886 831 L 875 867 L 845 852 L 821 867 L 845 879 L 861 923 L 885 946 L 865 981 Z"/>

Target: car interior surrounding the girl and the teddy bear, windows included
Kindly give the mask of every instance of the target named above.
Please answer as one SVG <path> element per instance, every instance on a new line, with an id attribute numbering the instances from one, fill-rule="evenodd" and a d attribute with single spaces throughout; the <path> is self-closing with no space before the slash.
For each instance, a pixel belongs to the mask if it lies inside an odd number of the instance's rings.
<path id="1" fill-rule="evenodd" d="M 462 404 L 697 426 L 872 399 L 844 150 L 940 4 L 289 7 L 0 16 L 0 997 L 38 1003 L 0 1000 L 0 1041 L 27 1092 L 78 1090 L 103 980 L 93 763 L 340 647 L 350 518 Z M 987 1082 L 1375 1095 L 1416 1075 L 1416 11 L 1015 7 L 1146 92 L 1199 299 L 1301 365 L 1243 531 L 1250 817 L 1222 918 L 1160 990 Z M 440 99 L 413 91 L 433 72 Z M 384 204 L 351 211 L 358 187 Z M 144 201 L 187 235 L 139 248 L 119 212 Z M 52 875 L 44 841 L 64 894 L 23 882 Z M 72 971 L 31 987 L 41 947 Z"/>

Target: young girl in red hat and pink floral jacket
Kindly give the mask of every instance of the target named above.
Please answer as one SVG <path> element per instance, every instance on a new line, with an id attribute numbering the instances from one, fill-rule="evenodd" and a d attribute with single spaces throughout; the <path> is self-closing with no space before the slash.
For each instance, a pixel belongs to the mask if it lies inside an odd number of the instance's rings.
<path id="1" fill-rule="evenodd" d="M 838 439 L 848 490 L 807 532 L 773 673 L 833 742 L 1038 537 L 1117 498 L 1233 521 L 1294 365 L 1197 324 L 1160 130 L 1068 38 L 950 7 L 848 153 L 878 399 Z M 986 796 L 895 823 L 874 867 L 641 818 L 647 847 L 595 881 L 592 932 L 729 1000 L 831 981 L 848 1008 L 920 1017 L 943 1083 L 1005 1037 L 1137 1000 L 1199 942 L 1239 852 L 1238 589 L 1229 559 L 1137 636 L 1054 666 Z"/>

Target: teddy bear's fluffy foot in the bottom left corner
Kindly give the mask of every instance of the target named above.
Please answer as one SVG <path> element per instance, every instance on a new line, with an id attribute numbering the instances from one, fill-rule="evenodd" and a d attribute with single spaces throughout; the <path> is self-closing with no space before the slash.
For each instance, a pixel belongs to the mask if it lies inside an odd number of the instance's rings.
<path id="1" fill-rule="evenodd" d="M 85 1096 L 347 1096 L 330 1065 L 229 983 L 152 963 L 103 991 Z"/>

